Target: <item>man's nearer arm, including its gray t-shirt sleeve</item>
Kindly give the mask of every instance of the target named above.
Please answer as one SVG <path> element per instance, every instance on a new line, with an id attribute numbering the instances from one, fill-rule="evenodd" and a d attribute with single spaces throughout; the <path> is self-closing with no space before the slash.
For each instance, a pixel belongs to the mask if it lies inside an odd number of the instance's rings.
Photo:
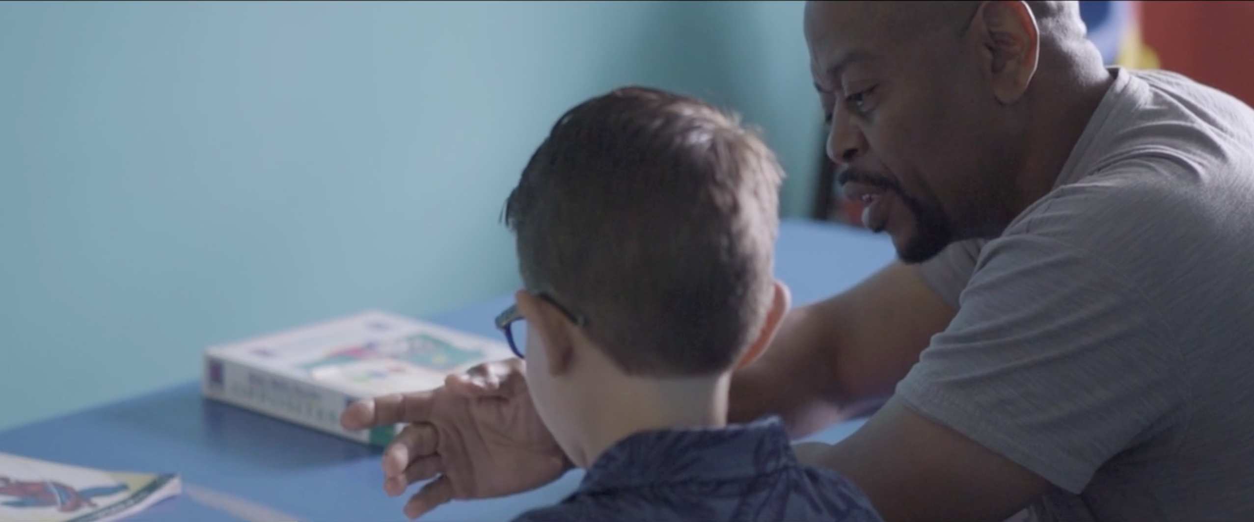
<path id="1" fill-rule="evenodd" d="M 1001 521 L 1051 487 L 1081 493 L 1184 422 L 1180 343 L 1129 270 L 1088 248 L 988 243 L 962 309 L 888 404 L 804 462 L 846 476 L 889 522 Z"/>

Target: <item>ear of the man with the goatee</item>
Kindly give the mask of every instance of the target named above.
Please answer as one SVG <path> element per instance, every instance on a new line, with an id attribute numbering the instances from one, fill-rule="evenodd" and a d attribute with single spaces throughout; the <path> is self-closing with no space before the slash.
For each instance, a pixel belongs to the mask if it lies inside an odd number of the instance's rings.
<path id="1" fill-rule="evenodd" d="M 976 11 L 971 34 L 984 54 L 984 74 L 997 101 L 1018 101 L 1032 83 L 1041 55 L 1036 15 L 1023 1 L 986 1 Z"/>

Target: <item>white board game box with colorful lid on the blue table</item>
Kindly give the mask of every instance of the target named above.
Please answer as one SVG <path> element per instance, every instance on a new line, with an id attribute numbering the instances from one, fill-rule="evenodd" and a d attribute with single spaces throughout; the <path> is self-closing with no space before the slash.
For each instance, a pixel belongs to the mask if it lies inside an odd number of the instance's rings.
<path id="1" fill-rule="evenodd" d="M 204 352 L 204 397 L 385 446 L 401 426 L 362 432 L 340 427 L 360 398 L 439 387 L 449 373 L 512 357 L 488 339 L 408 317 L 367 310 Z"/>

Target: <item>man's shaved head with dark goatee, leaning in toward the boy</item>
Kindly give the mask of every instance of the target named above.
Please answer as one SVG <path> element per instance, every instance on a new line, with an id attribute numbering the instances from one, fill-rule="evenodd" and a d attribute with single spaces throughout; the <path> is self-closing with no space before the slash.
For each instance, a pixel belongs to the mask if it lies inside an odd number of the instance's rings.
<path id="1" fill-rule="evenodd" d="M 811 1 L 805 36 L 828 154 L 907 262 L 999 233 L 1046 99 L 1077 63 L 1101 68 L 1067 1 Z"/>

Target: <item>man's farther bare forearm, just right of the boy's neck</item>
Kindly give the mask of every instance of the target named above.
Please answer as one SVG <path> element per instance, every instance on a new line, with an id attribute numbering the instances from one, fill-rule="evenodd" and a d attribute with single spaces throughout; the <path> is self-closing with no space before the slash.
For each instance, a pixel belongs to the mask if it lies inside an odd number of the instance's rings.
<path id="1" fill-rule="evenodd" d="M 770 349 L 732 377 L 734 422 L 779 414 L 804 436 L 893 392 L 954 309 L 899 262 L 785 317 Z"/>

